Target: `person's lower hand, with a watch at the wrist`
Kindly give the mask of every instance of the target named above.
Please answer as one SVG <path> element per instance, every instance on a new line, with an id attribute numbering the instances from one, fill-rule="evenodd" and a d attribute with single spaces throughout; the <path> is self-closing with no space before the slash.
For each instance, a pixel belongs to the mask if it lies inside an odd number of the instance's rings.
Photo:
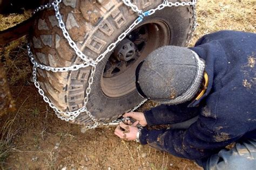
<path id="1" fill-rule="evenodd" d="M 114 130 L 114 134 L 124 140 L 135 140 L 138 132 L 138 128 L 136 127 L 138 123 L 139 121 L 136 121 L 132 125 L 128 125 L 120 122 L 116 130 Z"/>

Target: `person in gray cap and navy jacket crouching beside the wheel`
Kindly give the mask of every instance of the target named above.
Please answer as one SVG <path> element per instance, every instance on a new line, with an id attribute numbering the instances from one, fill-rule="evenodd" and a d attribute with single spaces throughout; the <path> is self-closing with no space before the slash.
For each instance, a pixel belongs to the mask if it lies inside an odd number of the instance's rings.
<path id="1" fill-rule="evenodd" d="M 152 52 L 137 68 L 137 90 L 163 104 L 124 114 L 137 122 L 120 123 L 115 134 L 195 160 L 205 169 L 254 169 L 255 42 L 254 33 L 220 31 L 192 48 L 165 46 Z M 138 123 L 171 124 L 171 129 L 138 129 Z"/>

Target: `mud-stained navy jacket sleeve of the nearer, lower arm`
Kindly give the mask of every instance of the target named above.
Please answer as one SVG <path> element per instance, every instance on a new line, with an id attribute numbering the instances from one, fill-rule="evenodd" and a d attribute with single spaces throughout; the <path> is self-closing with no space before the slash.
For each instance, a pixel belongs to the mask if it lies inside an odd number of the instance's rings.
<path id="1" fill-rule="evenodd" d="M 185 130 L 148 130 L 144 128 L 140 134 L 140 143 L 143 145 L 149 144 L 177 157 L 198 161 L 218 153 L 221 148 L 239 138 L 233 137 L 218 141 L 213 138 L 218 135 L 198 120 Z"/>

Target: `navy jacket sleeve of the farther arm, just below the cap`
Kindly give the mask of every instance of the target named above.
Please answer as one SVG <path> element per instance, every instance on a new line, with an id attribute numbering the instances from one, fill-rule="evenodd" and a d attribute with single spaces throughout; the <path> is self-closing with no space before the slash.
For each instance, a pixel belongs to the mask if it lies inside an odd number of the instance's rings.
<path id="1" fill-rule="evenodd" d="M 199 115 L 198 107 L 187 108 L 190 102 L 178 105 L 161 104 L 144 112 L 147 125 L 164 125 L 187 121 Z"/>

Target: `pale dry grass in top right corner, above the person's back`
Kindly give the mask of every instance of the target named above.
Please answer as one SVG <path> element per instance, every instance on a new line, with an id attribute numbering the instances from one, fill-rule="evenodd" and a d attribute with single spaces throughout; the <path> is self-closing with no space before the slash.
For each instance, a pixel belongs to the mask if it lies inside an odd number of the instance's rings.
<path id="1" fill-rule="evenodd" d="M 207 33 L 220 30 L 255 32 L 255 0 L 199 0 L 198 27 L 191 46 Z"/>

